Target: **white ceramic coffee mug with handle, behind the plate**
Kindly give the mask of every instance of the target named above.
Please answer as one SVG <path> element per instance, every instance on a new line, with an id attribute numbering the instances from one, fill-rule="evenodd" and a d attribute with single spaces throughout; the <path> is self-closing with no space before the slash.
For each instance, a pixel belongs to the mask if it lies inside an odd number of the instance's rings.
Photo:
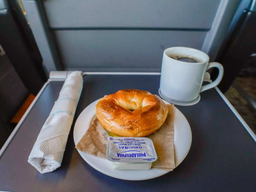
<path id="1" fill-rule="evenodd" d="M 169 55 L 197 58 L 200 63 L 179 61 L 172 59 Z M 212 67 L 219 69 L 217 79 L 202 86 L 206 71 Z M 159 94 L 174 104 L 195 104 L 200 100 L 199 93 L 221 82 L 223 72 L 224 69 L 220 63 L 209 63 L 209 56 L 200 50 L 187 47 L 167 48 L 163 52 Z"/>

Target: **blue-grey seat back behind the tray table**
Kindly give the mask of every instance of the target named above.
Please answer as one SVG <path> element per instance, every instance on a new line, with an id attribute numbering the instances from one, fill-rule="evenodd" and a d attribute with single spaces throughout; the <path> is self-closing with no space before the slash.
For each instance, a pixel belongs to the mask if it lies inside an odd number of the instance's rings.
<path id="1" fill-rule="evenodd" d="M 239 0 L 22 2 L 49 71 L 60 62 L 63 70 L 160 72 L 172 46 L 214 60 Z"/>

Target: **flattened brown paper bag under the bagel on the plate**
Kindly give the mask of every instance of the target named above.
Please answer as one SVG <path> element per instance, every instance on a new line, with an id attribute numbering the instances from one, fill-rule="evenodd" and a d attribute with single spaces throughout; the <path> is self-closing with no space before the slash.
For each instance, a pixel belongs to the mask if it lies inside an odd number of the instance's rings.
<path id="1" fill-rule="evenodd" d="M 155 146 L 157 161 L 152 163 L 152 168 L 173 170 L 174 165 L 174 105 L 167 105 L 169 112 L 160 129 L 148 135 Z M 94 117 L 90 127 L 80 139 L 76 148 L 96 157 L 106 158 L 106 146 L 109 136 L 117 136 L 102 128 L 97 117 Z"/>

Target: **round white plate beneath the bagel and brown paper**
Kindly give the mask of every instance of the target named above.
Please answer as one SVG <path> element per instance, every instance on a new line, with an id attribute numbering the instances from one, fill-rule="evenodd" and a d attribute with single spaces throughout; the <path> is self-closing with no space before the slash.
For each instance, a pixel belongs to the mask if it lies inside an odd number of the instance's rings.
<path id="1" fill-rule="evenodd" d="M 84 133 L 90 127 L 91 121 L 95 116 L 95 105 L 98 103 L 94 101 L 88 105 L 76 120 L 74 127 L 74 142 L 75 145 L 82 138 Z M 166 104 L 168 102 L 164 101 Z M 175 167 L 177 167 L 187 156 L 192 142 L 191 129 L 185 116 L 177 109 L 174 108 L 175 121 L 174 121 L 174 155 Z M 99 172 L 106 174 L 110 177 L 115 177 L 124 180 L 147 180 L 159 177 L 168 173 L 167 170 L 149 169 L 149 170 L 117 170 L 111 167 L 110 161 L 107 159 L 95 157 L 94 155 L 84 153 L 78 150 L 78 153 L 90 166 Z"/>

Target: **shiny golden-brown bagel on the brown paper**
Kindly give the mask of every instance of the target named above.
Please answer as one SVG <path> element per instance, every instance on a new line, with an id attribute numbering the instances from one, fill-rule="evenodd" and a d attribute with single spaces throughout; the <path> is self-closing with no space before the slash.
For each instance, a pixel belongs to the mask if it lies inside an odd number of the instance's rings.
<path id="1" fill-rule="evenodd" d="M 125 137 L 144 137 L 157 131 L 168 113 L 157 95 L 136 89 L 124 89 L 103 97 L 95 109 L 103 128 Z"/>

